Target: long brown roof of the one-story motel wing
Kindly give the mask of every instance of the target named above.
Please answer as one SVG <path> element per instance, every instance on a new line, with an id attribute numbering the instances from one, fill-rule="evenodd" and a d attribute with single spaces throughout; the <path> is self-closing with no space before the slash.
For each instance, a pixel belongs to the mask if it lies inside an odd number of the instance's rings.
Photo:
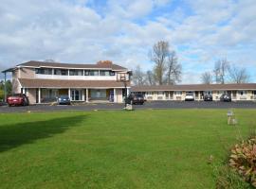
<path id="1" fill-rule="evenodd" d="M 256 83 L 241 84 L 186 84 L 186 85 L 155 85 L 155 86 L 133 86 L 132 92 L 153 91 L 231 91 L 231 90 L 255 90 Z"/>

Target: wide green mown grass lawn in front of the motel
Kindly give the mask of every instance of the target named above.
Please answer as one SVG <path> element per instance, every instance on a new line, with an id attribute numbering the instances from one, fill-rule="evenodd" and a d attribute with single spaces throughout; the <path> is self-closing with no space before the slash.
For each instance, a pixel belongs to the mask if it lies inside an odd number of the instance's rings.
<path id="1" fill-rule="evenodd" d="M 256 110 L 235 110 L 240 134 Z M 215 188 L 227 110 L 0 114 L 0 188 Z"/>

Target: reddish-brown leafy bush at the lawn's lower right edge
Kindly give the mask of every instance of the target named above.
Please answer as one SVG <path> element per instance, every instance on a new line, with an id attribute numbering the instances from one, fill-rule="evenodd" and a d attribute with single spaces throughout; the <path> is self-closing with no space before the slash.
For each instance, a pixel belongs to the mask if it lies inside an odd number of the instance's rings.
<path id="1" fill-rule="evenodd" d="M 256 187 L 256 137 L 242 141 L 232 147 L 229 158 L 230 167 L 244 180 Z"/>

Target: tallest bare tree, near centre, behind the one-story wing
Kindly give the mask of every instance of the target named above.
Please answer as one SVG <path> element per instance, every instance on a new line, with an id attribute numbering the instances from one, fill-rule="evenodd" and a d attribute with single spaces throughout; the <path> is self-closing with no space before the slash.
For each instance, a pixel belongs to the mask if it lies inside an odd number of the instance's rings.
<path id="1" fill-rule="evenodd" d="M 166 59 L 169 55 L 169 43 L 160 41 L 154 44 L 150 52 L 150 59 L 155 62 L 155 81 L 157 84 L 163 84 L 163 77 L 166 71 Z"/>

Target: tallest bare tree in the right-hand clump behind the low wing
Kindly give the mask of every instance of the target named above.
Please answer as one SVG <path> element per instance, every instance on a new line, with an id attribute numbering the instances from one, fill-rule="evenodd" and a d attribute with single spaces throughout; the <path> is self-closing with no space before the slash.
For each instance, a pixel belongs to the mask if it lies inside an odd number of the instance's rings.
<path id="1" fill-rule="evenodd" d="M 215 82 L 224 84 L 226 82 L 227 72 L 229 71 L 229 61 L 227 59 L 217 60 L 214 65 Z"/>

